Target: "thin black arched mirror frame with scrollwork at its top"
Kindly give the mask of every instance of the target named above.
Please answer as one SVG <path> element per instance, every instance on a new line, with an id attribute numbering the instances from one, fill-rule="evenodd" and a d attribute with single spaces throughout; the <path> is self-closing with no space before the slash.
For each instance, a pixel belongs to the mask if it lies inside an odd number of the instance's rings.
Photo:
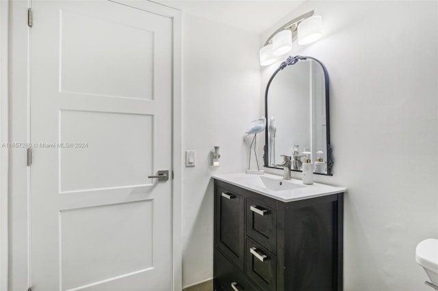
<path id="1" fill-rule="evenodd" d="M 287 57 L 286 61 L 283 61 L 279 68 L 277 68 L 275 70 L 275 72 L 272 74 L 272 76 L 270 77 L 268 84 L 266 85 L 266 92 L 265 92 L 265 116 L 266 116 L 266 120 L 268 121 L 268 92 L 269 92 L 269 87 L 270 84 L 272 82 L 272 80 L 274 79 L 274 77 L 276 76 L 276 74 L 278 74 L 281 70 L 283 70 L 284 68 L 286 68 L 287 66 L 293 66 L 294 64 L 296 64 L 298 61 L 302 61 L 302 60 L 307 60 L 307 59 L 312 59 L 313 61 L 316 61 L 318 64 L 320 64 L 322 70 L 324 71 L 324 81 L 325 81 L 325 101 L 326 101 L 326 153 L 327 153 L 327 172 L 324 173 L 314 173 L 314 174 L 320 174 L 320 175 L 326 175 L 326 176 L 333 176 L 332 173 L 332 169 L 333 169 L 333 157 L 332 157 L 332 148 L 331 148 L 331 143 L 330 143 L 330 112 L 329 112 L 329 74 L 327 73 L 327 69 L 324 66 L 324 64 L 322 64 L 322 62 L 318 59 L 315 59 L 314 57 L 309 57 L 309 56 L 300 56 L 300 55 L 296 55 L 294 57 L 289 56 Z M 268 127 L 268 126 L 266 126 Z M 264 162 L 264 167 L 268 167 L 268 168 L 272 168 L 272 169 L 280 169 L 277 167 L 270 167 L 269 166 L 269 161 L 268 161 L 268 130 L 265 130 L 265 146 L 263 147 L 263 162 Z M 300 170 L 294 170 L 292 169 L 292 171 L 300 171 Z"/>

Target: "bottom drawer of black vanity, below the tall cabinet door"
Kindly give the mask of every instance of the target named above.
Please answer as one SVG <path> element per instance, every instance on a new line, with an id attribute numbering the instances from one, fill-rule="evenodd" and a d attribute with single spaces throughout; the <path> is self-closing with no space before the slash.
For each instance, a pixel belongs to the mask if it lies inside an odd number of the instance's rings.
<path id="1" fill-rule="evenodd" d="M 227 258 L 215 251 L 216 275 L 215 275 L 215 288 L 216 290 L 229 290 L 229 291 L 249 291 L 259 289 L 253 285 L 245 275 L 237 270 L 237 268 L 231 264 Z"/>

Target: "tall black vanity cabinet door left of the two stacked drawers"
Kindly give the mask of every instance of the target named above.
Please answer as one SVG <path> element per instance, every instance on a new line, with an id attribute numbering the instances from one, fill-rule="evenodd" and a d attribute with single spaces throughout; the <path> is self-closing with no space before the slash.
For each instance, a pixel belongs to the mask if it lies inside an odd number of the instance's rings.
<path id="1" fill-rule="evenodd" d="M 215 245 L 244 270 L 244 197 L 216 187 Z"/>

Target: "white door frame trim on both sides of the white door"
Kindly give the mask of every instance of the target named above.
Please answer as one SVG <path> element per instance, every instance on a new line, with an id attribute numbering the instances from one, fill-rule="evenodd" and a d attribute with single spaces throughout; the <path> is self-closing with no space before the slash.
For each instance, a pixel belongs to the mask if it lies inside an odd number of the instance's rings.
<path id="1" fill-rule="evenodd" d="M 103 0 L 102 0 L 103 1 Z M 182 289 L 181 11 L 153 1 L 109 0 L 172 19 L 172 284 Z M 29 142 L 29 31 L 31 0 L 0 1 L 0 145 Z M 34 19 L 38 12 L 34 11 Z M 38 25 L 38 20 L 34 21 Z M 8 38 L 9 33 L 9 38 Z M 8 52 L 9 49 L 9 52 Z M 13 53 L 12 53 L 13 52 Z M 8 87 L 9 85 L 9 87 Z M 29 287 L 29 167 L 27 149 L 0 148 L 0 291 Z M 13 248 L 8 246 L 14 246 Z M 15 283 L 8 286 L 8 283 Z M 11 289 L 12 290 L 12 289 Z"/>

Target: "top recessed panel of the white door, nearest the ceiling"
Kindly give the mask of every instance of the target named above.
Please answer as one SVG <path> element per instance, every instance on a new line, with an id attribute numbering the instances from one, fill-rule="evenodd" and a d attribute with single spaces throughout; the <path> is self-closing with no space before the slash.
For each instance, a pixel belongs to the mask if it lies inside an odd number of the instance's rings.
<path id="1" fill-rule="evenodd" d="M 153 99 L 154 31 L 141 21 L 129 18 L 120 23 L 99 14 L 62 8 L 60 91 Z M 123 72 L 129 76 L 120 82 Z"/>

